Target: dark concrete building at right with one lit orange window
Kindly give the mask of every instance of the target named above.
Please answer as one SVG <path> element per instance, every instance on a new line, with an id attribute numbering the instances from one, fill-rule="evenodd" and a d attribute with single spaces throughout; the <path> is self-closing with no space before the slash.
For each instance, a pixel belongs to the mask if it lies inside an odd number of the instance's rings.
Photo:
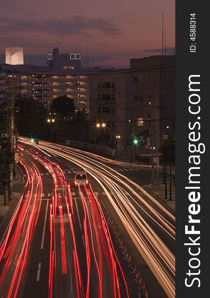
<path id="1" fill-rule="evenodd" d="M 152 134 L 160 146 L 175 114 L 175 56 L 131 59 L 130 70 L 89 75 L 89 102 L 90 119 L 106 124 L 102 134 L 96 129 L 99 142 L 113 147 L 120 136 L 129 154 L 131 138 L 143 140 L 142 150 Z"/>

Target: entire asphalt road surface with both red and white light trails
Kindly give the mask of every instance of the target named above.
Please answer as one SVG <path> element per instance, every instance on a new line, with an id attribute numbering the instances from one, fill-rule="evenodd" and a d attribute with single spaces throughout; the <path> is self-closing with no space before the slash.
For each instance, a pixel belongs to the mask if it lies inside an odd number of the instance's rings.
<path id="1" fill-rule="evenodd" d="M 149 297 L 175 297 L 174 218 L 140 188 L 150 167 L 22 141 L 24 183 L 15 188 L 23 195 L 0 248 L 0 297 L 140 297 L 108 217 Z M 79 169 L 88 184 L 75 187 Z"/>

